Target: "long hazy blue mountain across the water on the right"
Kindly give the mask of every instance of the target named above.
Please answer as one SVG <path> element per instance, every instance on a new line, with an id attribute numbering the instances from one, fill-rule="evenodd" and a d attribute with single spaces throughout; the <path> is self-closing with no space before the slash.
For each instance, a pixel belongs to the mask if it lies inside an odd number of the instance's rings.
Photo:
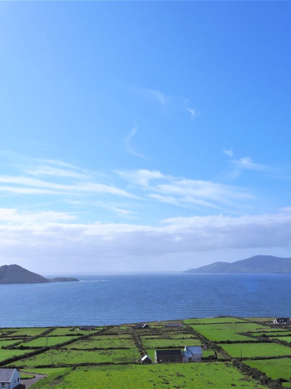
<path id="1" fill-rule="evenodd" d="M 211 265 L 185 270 L 184 273 L 291 273 L 291 258 L 256 255 L 233 263 L 214 262 Z"/>

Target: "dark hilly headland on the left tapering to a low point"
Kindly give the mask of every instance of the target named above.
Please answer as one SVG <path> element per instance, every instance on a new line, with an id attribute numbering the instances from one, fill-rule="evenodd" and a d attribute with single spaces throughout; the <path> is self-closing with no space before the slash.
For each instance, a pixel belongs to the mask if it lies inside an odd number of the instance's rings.
<path id="1" fill-rule="evenodd" d="M 4 283 L 51 283 L 51 282 L 66 282 L 79 281 L 77 278 L 58 277 L 50 280 L 32 273 L 19 265 L 3 265 L 0 266 L 0 284 Z"/>

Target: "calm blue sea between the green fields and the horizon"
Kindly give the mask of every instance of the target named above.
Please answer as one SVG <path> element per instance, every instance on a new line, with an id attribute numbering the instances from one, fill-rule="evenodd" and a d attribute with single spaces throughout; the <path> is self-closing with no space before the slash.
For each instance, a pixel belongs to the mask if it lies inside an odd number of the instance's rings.
<path id="1" fill-rule="evenodd" d="M 291 274 L 78 278 L 84 281 L 0 285 L 0 327 L 103 325 L 220 315 L 291 316 Z"/>

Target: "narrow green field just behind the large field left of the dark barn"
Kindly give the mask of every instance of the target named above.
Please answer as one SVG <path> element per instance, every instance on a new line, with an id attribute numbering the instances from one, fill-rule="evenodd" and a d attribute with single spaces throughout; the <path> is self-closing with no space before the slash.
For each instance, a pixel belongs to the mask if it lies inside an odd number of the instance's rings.
<path id="1" fill-rule="evenodd" d="M 134 346 L 133 338 L 119 336 L 94 336 L 85 340 L 79 340 L 65 346 L 66 349 L 108 349 L 108 348 L 119 348 L 127 347 L 132 348 Z"/>

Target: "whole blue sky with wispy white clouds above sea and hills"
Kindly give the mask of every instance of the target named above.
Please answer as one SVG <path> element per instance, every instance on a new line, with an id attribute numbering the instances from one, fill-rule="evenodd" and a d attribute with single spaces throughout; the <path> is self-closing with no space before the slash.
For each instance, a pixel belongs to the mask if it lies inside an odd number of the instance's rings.
<path id="1" fill-rule="evenodd" d="M 289 2 L 2 2 L 0 265 L 291 256 Z"/>

